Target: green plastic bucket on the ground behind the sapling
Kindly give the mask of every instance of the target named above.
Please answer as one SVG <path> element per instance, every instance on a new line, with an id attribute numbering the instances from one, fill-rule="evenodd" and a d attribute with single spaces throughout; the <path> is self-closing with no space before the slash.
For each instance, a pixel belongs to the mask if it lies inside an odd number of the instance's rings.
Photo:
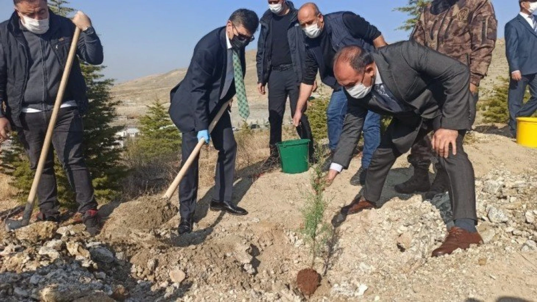
<path id="1" fill-rule="evenodd" d="M 282 141 L 278 144 L 281 170 L 287 174 L 298 174 L 309 169 L 309 139 Z"/>

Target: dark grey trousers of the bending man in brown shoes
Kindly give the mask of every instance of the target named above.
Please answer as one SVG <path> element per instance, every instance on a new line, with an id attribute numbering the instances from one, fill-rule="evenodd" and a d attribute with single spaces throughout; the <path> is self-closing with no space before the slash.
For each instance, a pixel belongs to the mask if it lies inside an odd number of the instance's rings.
<path id="1" fill-rule="evenodd" d="M 431 131 L 432 123 L 424 123 L 414 144 L 422 140 Z M 449 199 L 451 200 L 453 219 L 468 218 L 477 220 L 474 167 L 462 147 L 465 134 L 466 131 L 459 131 L 457 155 L 453 155 L 450 148 L 449 156 L 447 158 L 439 157 L 439 163 L 446 170 L 449 177 Z M 364 187 L 365 199 L 373 203 L 380 200 L 386 177 L 397 157 L 401 155 L 391 141 L 390 131 L 386 131 L 386 134 L 382 136 L 379 148 L 373 154 L 373 159 L 367 170 Z"/>

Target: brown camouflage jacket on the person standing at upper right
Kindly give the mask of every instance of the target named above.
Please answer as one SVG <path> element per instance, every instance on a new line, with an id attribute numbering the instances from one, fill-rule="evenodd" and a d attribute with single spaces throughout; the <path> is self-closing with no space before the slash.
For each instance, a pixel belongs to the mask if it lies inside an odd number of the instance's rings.
<path id="1" fill-rule="evenodd" d="M 490 0 L 434 0 L 427 4 L 411 39 L 470 67 L 470 82 L 487 75 L 498 22 Z"/>

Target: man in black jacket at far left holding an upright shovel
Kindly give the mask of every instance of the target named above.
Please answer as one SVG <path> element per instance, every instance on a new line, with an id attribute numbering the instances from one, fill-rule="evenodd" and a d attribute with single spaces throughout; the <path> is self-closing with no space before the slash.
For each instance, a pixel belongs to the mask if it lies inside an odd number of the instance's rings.
<path id="1" fill-rule="evenodd" d="M 71 20 L 48 9 L 46 0 L 14 0 L 15 12 L 0 24 L 0 137 L 17 130 L 30 165 L 37 168 L 54 101 L 67 62 L 75 26 L 82 30 L 77 55 L 89 64 L 103 63 L 103 47 L 91 20 L 78 12 Z M 5 105 L 5 109 L 3 108 Z M 99 232 L 97 202 L 82 147 L 82 118 L 88 109 L 86 85 L 78 59 L 54 128 L 52 144 L 76 192 L 78 213 L 92 235 Z M 38 192 L 38 220 L 57 221 L 53 148 L 50 148 Z"/>

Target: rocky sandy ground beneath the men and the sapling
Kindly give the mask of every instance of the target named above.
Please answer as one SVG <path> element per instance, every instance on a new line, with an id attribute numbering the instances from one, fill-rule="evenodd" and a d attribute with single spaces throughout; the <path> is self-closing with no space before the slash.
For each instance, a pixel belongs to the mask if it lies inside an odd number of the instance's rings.
<path id="1" fill-rule="evenodd" d="M 478 133 L 467 150 L 476 158 L 485 244 L 466 252 L 431 258 L 451 224 L 449 200 L 395 194 L 391 186 L 411 173 L 401 158 L 388 177 L 383 207 L 339 226 L 330 253 L 315 261 L 322 283 L 304 297 L 295 280 L 311 262 L 299 231 L 310 175 L 274 171 L 237 179 L 235 202 L 248 216 L 208 211 L 211 190 L 202 188 L 188 236 L 177 236 L 177 200 L 172 205 L 158 197 L 104 206 L 108 220 L 96 238 L 83 225 L 1 231 L 0 300 L 536 300 L 537 171 L 529 166 L 537 152 Z M 358 165 L 356 158 L 351 171 Z M 326 221 L 359 191 L 349 185 L 351 171 L 326 191 Z"/>

